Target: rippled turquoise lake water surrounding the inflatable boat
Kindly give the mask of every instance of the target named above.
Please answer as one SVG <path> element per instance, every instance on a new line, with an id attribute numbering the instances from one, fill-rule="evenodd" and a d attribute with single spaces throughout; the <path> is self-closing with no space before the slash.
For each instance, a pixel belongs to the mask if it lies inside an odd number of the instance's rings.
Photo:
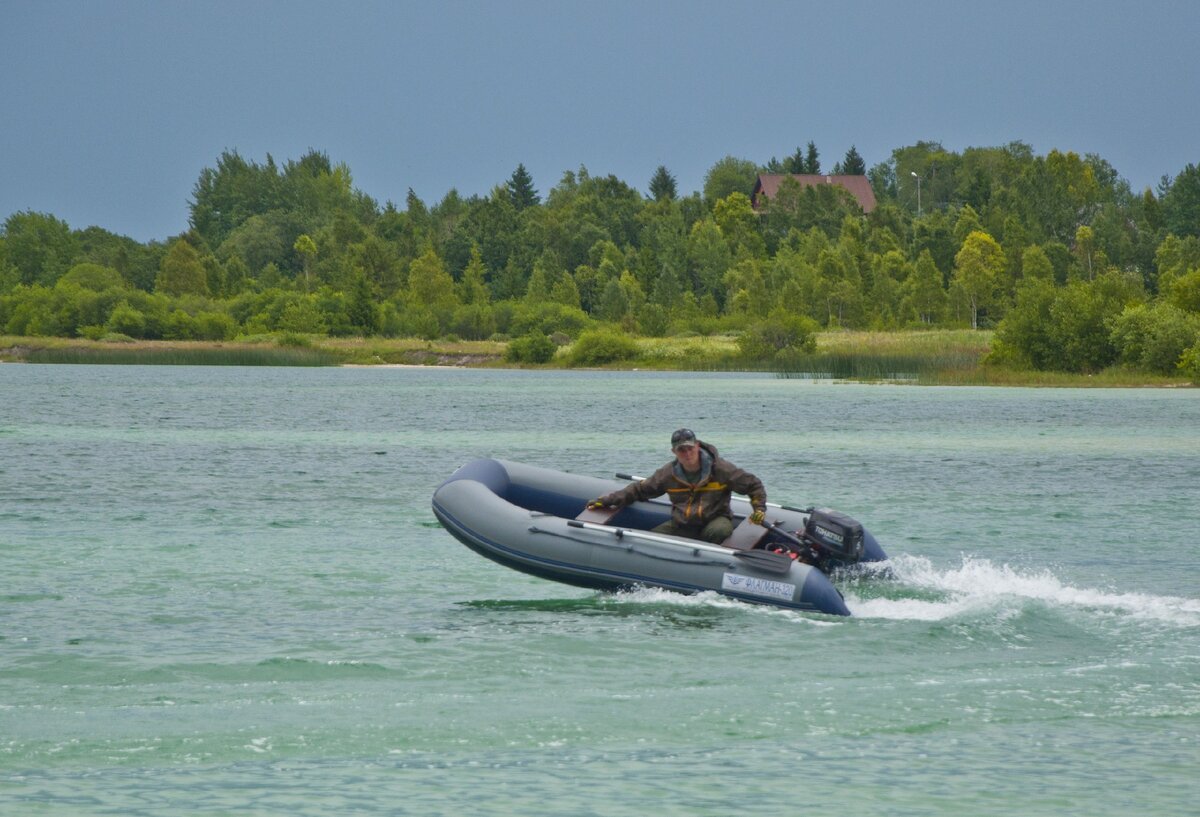
<path id="1" fill-rule="evenodd" d="M 854 618 L 594 594 L 430 497 L 678 426 Z M 0 366 L 2 815 L 1194 815 L 1200 391 Z"/>

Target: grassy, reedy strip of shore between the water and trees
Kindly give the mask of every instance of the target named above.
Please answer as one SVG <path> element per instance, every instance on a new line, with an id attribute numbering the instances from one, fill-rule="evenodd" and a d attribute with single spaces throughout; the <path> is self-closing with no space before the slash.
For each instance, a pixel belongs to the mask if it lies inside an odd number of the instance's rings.
<path id="1" fill-rule="evenodd" d="M 1162 377 L 1114 367 L 1093 374 L 1009 370 L 982 362 L 990 332 L 930 330 L 824 332 L 808 371 L 748 365 L 732 338 L 637 338 L 638 356 L 584 367 L 504 360 L 502 341 L 306 337 L 280 343 L 271 336 L 236 341 L 90 341 L 0 337 L 0 364 L 170 364 L 337 366 L 343 368 L 503 368 L 546 371 L 745 372 L 784 378 L 905 385 L 1024 388 L 1192 389 L 1186 377 Z M 804 365 L 804 364 L 802 364 Z M 817 371 L 821 368 L 822 371 Z"/>

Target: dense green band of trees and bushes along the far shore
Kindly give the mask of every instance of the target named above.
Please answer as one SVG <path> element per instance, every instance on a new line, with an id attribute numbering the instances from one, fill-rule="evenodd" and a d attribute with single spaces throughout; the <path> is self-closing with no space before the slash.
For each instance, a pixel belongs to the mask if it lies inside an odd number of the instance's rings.
<path id="1" fill-rule="evenodd" d="M 992 359 L 1013 366 L 1200 376 L 1200 168 L 1136 193 L 1093 155 L 919 143 L 832 169 L 865 172 L 877 206 L 791 180 L 751 206 L 760 173 L 822 173 L 811 142 L 726 157 L 691 194 L 665 167 L 646 194 L 581 167 L 542 196 L 520 166 L 487 196 L 409 191 L 403 208 L 318 151 L 282 167 L 226 151 L 169 241 L 8 216 L 0 330 L 499 337 L 538 360 L 587 330 L 734 332 L 761 359 L 821 328 L 971 326 L 996 329 Z"/>

